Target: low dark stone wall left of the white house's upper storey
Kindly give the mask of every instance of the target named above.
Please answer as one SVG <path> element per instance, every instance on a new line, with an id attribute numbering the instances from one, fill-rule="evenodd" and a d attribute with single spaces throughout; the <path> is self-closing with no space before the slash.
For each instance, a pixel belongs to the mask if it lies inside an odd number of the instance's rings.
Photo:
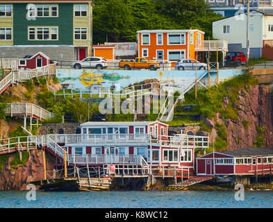
<path id="1" fill-rule="evenodd" d="M 38 131 L 39 135 L 45 134 L 76 134 L 81 123 L 44 123 Z"/>

